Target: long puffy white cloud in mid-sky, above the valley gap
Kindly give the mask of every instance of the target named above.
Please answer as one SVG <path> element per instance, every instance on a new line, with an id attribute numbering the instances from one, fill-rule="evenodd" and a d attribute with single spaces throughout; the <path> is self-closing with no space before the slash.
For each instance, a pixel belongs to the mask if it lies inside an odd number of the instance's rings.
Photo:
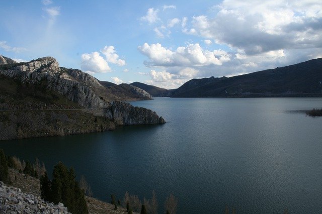
<path id="1" fill-rule="evenodd" d="M 230 55 L 222 50 L 204 50 L 198 43 L 186 47 L 178 47 L 172 51 L 161 44 L 147 44 L 138 46 L 138 50 L 147 56 L 150 61 L 147 66 L 204 66 L 221 65 L 230 60 Z"/>

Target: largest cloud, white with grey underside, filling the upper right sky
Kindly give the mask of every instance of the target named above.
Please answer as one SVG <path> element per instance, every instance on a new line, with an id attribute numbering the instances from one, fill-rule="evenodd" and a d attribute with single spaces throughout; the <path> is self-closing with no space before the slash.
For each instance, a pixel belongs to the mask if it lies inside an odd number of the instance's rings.
<path id="1" fill-rule="evenodd" d="M 257 55 L 280 49 L 321 47 L 319 1 L 223 1 L 214 17 L 192 18 L 184 29 L 216 43 Z"/>

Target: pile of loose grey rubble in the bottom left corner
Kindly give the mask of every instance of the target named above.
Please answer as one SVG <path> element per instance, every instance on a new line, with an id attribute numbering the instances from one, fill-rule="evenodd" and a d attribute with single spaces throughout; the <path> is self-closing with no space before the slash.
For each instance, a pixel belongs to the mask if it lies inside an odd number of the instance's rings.
<path id="1" fill-rule="evenodd" d="M 1 213 L 70 213 L 62 203 L 54 205 L 20 188 L 8 187 L 0 181 Z"/>

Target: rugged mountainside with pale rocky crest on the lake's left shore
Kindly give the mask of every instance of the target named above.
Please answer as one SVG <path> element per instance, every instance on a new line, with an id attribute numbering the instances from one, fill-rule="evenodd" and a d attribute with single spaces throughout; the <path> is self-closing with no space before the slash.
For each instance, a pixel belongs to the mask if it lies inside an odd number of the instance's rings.
<path id="1" fill-rule="evenodd" d="M 59 67 L 53 57 L 0 59 L 0 140 L 165 123 L 155 112 L 120 102 L 151 99 L 138 87 L 104 86 L 81 70 Z"/>

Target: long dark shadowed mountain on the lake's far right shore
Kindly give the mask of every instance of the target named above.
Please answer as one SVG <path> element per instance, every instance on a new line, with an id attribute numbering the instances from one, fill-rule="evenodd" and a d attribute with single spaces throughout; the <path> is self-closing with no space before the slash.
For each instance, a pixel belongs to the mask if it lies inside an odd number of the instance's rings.
<path id="1" fill-rule="evenodd" d="M 322 96 L 322 58 L 221 78 L 191 79 L 171 97 Z"/>

